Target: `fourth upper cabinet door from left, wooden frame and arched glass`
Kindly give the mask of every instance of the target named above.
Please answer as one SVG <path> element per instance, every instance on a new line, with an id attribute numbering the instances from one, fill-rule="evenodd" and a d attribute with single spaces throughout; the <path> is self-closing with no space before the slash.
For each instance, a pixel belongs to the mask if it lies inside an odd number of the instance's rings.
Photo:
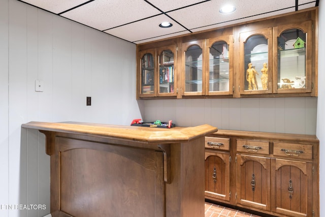
<path id="1" fill-rule="evenodd" d="M 232 36 L 209 39 L 209 75 L 207 95 L 231 95 L 233 93 L 233 43 Z"/>

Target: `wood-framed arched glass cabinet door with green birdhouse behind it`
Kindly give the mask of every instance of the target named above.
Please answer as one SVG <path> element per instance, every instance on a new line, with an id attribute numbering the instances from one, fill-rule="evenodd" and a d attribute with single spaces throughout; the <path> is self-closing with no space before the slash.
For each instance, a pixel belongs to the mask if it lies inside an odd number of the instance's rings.
<path id="1" fill-rule="evenodd" d="M 291 24 L 275 28 L 277 73 L 274 88 L 278 93 L 311 92 L 312 22 L 299 23 L 298 28 L 292 26 Z"/>

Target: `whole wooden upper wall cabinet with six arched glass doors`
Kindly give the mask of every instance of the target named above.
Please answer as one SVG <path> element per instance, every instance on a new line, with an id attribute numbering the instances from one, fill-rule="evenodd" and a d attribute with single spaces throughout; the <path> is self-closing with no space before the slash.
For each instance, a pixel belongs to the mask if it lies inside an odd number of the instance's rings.
<path id="1" fill-rule="evenodd" d="M 317 17 L 315 8 L 137 45 L 137 98 L 317 97 Z"/>

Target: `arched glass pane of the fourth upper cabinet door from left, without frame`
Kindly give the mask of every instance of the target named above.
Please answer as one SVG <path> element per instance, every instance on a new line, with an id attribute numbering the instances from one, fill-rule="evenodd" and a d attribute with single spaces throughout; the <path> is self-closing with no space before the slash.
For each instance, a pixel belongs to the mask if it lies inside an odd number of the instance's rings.
<path id="1" fill-rule="evenodd" d="M 209 91 L 229 91 L 229 46 L 223 41 L 210 48 Z"/>

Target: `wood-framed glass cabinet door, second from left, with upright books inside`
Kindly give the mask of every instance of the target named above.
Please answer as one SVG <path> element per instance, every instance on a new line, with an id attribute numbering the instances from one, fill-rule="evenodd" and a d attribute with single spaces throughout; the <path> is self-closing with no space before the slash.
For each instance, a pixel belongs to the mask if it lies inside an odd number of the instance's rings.
<path id="1" fill-rule="evenodd" d="M 162 51 L 160 51 L 162 50 Z M 176 96 L 176 46 L 158 50 L 158 96 Z"/>

